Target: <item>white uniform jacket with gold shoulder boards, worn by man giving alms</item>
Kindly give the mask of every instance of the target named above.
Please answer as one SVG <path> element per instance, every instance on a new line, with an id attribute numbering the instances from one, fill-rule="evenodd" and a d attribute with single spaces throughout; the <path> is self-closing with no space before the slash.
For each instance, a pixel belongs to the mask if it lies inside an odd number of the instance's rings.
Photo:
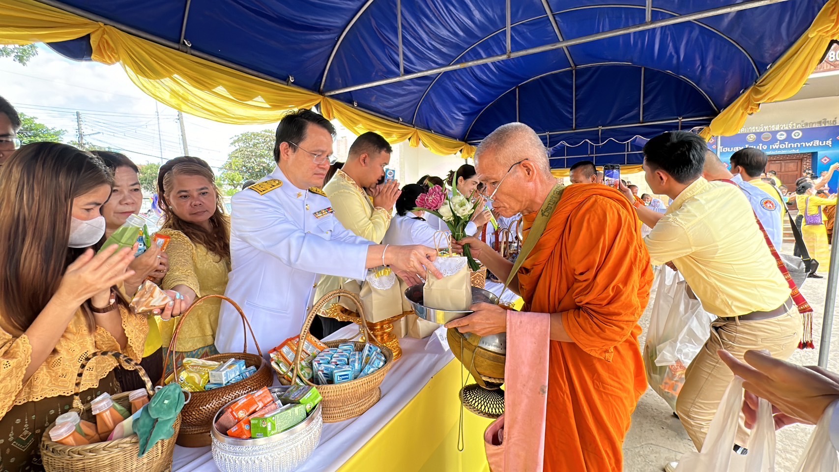
<path id="1" fill-rule="evenodd" d="M 268 350 L 300 334 L 319 274 L 363 279 L 373 244 L 338 222 L 320 189 L 297 188 L 279 167 L 260 182 L 274 179 L 282 185 L 274 182 L 268 191 L 251 186 L 232 197 L 232 270 L 225 291 L 242 307 L 266 358 Z M 221 303 L 216 349 L 241 352 L 244 334 L 236 309 Z M 257 352 L 250 334 L 248 352 Z"/>

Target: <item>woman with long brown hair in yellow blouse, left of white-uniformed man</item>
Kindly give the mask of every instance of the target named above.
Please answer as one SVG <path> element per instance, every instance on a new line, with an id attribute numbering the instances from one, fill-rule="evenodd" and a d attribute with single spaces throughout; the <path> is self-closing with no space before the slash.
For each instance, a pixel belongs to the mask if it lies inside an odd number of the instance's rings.
<path id="1" fill-rule="evenodd" d="M 178 157 L 160 167 L 158 193 L 164 223 L 159 234 L 171 238 L 165 290 L 178 291 L 185 306 L 198 297 L 224 294 L 230 272 L 230 218 L 224 214 L 210 165 L 195 157 Z M 185 318 L 175 346 L 175 359 L 218 354 L 213 344 L 221 300 L 201 302 Z M 160 323 L 164 356 L 180 320 Z M 168 359 L 167 359 L 168 360 Z"/>

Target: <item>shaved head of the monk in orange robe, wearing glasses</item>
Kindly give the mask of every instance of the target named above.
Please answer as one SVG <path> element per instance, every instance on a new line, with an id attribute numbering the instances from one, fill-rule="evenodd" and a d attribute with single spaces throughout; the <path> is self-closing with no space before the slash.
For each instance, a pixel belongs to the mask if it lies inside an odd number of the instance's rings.
<path id="1" fill-rule="evenodd" d="M 484 138 L 475 151 L 475 169 L 504 218 L 536 212 L 556 185 L 545 144 L 524 123 L 505 124 Z"/>

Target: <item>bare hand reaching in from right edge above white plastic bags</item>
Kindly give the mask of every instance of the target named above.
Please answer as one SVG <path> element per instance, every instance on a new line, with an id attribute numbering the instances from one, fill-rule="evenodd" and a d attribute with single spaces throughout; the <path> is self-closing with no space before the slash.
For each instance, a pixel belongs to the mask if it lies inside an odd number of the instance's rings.
<path id="1" fill-rule="evenodd" d="M 768 400 L 786 415 L 775 420 L 776 427 L 789 424 L 790 417 L 816 424 L 827 406 L 839 400 L 839 378 L 816 366 L 789 364 L 765 351 L 746 351 L 746 362 L 722 349 L 717 353 L 734 375 L 743 378 L 746 391 Z M 743 411 L 748 413 L 748 408 Z"/>

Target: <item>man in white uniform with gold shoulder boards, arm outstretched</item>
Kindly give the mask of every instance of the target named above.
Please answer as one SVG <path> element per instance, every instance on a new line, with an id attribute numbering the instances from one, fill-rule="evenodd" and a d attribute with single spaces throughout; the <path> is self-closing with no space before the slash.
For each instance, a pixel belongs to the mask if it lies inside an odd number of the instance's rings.
<path id="1" fill-rule="evenodd" d="M 420 283 L 426 266 L 441 277 L 429 263 L 434 249 L 374 244 L 335 218 L 320 190 L 335 134 L 326 118 L 310 110 L 285 115 L 277 127 L 274 172 L 232 198 L 232 270 L 225 295 L 248 316 L 264 356 L 300 334 L 318 274 L 363 279 L 368 268 L 390 265 L 409 285 Z M 239 352 L 244 334 L 238 312 L 222 304 L 216 349 Z M 257 352 L 253 343 L 248 352 Z"/>

